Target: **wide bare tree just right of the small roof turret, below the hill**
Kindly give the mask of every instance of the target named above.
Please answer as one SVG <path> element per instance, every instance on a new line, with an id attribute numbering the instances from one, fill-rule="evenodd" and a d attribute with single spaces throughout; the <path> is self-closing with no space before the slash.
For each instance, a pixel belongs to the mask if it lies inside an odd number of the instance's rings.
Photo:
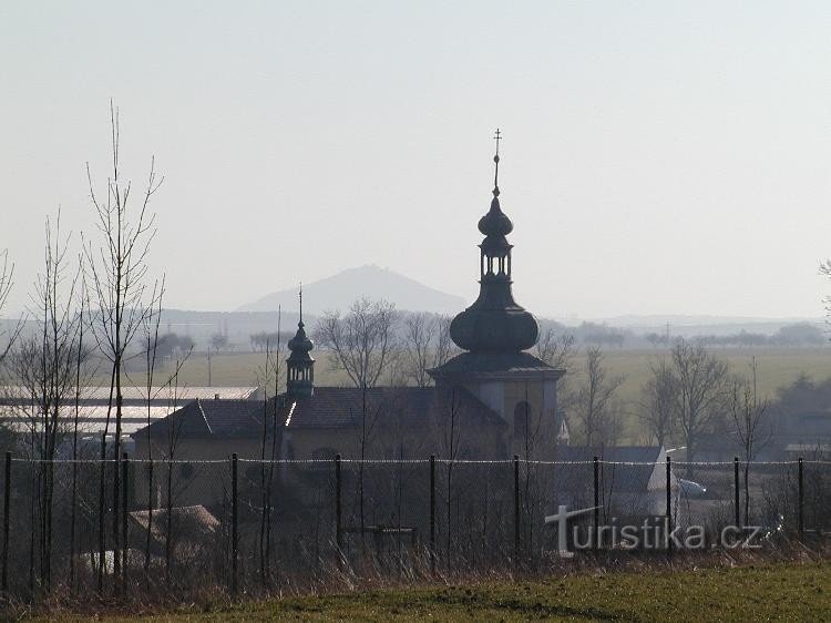
<path id="1" fill-rule="evenodd" d="M 318 320 L 315 337 L 331 350 L 329 364 L 358 388 L 375 387 L 398 355 L 396 306 L 387 300 L 356 300 L 346 316 L 328 312 Z"/>

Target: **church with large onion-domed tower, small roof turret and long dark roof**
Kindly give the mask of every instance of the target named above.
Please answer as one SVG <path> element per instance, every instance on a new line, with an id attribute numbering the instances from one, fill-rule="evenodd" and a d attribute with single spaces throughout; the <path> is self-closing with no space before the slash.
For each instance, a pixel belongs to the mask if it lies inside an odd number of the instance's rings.
<path id="1" fill-rule="evenodd" d="M 493 197 L 479 221 L 479 297 L 453 318 L 450 335 L 462 353 L 429 370 L 434 387 L 316 386 L 301 312 L 285 394 L 266 402 L 195 400 L 136 431 L 136 456 L 553 459 L 568 438 L 557 408 L 565 370 L 529 353 L 540 329 L 512 294 L 513 223 L 500 205 L 499 133 L 493 160 Z"/>

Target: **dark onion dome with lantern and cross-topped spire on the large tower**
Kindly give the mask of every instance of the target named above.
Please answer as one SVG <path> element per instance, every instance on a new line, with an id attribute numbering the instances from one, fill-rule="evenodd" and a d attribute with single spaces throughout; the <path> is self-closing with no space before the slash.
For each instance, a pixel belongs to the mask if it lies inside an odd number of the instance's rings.
<path id="1" fill-rule="evenodd" d="M 450 325 L 450 337 L 471 353 L 519 353 L 536 344 L 540 327 L 536 318 L 516 304 L 511 292 L 511 249 L 505 237 L 513 223 L 499 202 L 499 141 L 496 131 L 495 174 L 491 210 L 479 221 L 485 238 L 481 249 L 479 298 L 459 314 Z"/>

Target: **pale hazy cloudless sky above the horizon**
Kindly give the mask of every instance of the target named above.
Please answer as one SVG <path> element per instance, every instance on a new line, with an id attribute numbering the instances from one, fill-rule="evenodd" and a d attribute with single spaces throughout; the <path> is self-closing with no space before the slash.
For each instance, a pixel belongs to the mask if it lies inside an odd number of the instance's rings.
<path id="1" fill-rule="evenodd" d="M 109 100 L 167 306 L 343 267 L 475 297 L 500 125 L 514 292 L 542 316 L 820 316 L 831 3 L 0 3 L 0 248 L 92 227 Z"/>

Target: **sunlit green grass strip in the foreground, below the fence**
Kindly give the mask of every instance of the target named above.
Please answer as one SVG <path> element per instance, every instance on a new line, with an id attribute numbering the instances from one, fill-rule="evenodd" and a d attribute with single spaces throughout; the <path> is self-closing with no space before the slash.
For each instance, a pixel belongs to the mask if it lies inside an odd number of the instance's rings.
<path id="1" fill-rule="evenodd" d="M 828 621 L 831 562 L 285 598 L 150 621 Z M 117 620 L 117 619 L 116 619 Z"/>

